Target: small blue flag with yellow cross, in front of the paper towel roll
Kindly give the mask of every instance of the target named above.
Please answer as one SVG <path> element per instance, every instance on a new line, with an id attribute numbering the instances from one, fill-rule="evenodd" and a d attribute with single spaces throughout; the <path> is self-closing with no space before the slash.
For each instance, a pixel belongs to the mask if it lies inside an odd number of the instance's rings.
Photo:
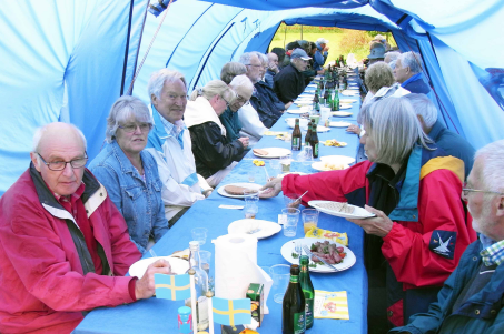
<path id="1" fill-rule="evenodd" d="M 221 325 L 247 325 L 251 323 L 250 298 L 223 300 L 214 297 L 214 321 Z"/>

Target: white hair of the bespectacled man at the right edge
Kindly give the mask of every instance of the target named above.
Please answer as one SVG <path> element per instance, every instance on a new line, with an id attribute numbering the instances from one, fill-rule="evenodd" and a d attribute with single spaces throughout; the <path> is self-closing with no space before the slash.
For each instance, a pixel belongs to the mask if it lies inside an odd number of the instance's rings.
<path id="1" fill-rule="evenodd" d="M 504 192 L 504 139 L 490 143 L 476 151 L 474 159 L 482 158 L 481 174 L 477 175 L 485 190 Z M 474 169 L 473 169 L 474 170 Z"/>

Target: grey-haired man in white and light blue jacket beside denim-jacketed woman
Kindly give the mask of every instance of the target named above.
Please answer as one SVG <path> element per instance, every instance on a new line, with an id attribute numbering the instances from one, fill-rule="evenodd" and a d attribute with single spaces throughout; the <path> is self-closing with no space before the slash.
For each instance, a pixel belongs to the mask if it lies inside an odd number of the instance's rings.
<path id="1" fill-rule="evenodd" d="M 187 104 L 186 79 L 180 72 L 161 69 L 150 77 L 148 91 L 154 129 L 147 151 L 158 164 L 165 215 L 172 226 L 213 189 L 196 173 L 190 134 L 182 120 Z"/>

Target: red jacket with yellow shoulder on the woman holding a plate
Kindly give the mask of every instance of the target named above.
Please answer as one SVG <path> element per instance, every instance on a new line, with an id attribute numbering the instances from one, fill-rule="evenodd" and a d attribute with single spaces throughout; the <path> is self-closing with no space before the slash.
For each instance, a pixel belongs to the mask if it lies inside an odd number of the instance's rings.
<path id="1" fill-rule="evenodd" d="M 452 156 L 446 156 L 445 160 L 454 161 Z M 303 198 L 305 205 L 312 200 L 360 202 L 359 205 L 363 205 L 363 202 L 368 203 L 369 200 L 370 188 L 366 175 L 373 165 L 372 162 L 365 161 L 344 171 L 306 176 L 286 175 L 283 180 L 283 191 L 304 193 L 308 190 Z M 476 240 L 471 224 L 467 222 L 466 225 L 466 212 L 461 201 L 463 179 L 463 172 L 461 178 L 459 173 L 454 173 L 447 166 L 439 168 L 436 163 L 425 163 L 419 178 L 418 216 L 412 216 L 417 221 L 394 221 L 391 232 L 383 237 L 382 253 L 397 281 L 403 283 L 404 291 L 413 287 L 441 286 L 457 266 L 467 245 Z M 356 198 L 363 198 L 364 201 L 356 201 Z M 467 220 L 471 217 L 467 216 Z M 433 232 L 437 231 L 456 232 L 452 259 L 433 251 L 432 241 L 438 240 Z M 398 308 L 402 308 L 402 302 L 398 305 Z M 394 311 L 397 318 L 402 318 L 402 310 L 395 307 Z M 395 323 L 398 325 L 402 320 Z"/>

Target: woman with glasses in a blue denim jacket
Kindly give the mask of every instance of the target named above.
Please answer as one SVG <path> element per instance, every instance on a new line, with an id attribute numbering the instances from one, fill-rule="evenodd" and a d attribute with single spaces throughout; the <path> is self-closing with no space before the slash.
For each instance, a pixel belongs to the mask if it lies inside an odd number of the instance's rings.
<path id="1" fill-rule="evenodd" d="M 89 169 L 107 189 L 141 253 L 168 231 L 156 161 L 144 151 L 152 119 L 140 99 L 121 97 L 107 119 L 105 149 Z"/>

